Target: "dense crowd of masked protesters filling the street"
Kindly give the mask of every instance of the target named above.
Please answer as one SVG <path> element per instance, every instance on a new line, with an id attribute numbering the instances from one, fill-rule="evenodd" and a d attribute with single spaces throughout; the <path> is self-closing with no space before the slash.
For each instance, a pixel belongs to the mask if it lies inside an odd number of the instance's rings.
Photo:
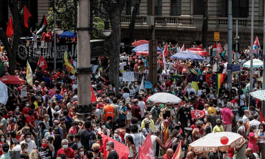
<path id="1" fill-rule="evenodd" d="M 162 50 L 164 45 L 160 45 Z M 199 46 L 194 43 L 192 47 Z M 218 155 L 227 159 L 265 158 L 265 125 L 260 122 L 259 113 L 261 101 L 249 98 L 249 68 L 241 67 L 241 74 L 233 74 L 231 90 L 227 77 L 218 89 L 212 75 L 226 73 L 225 51 L 218 58 L 207 61 L 205 57 L 205 61 L 199 62 L 173 59 L 171 55 L 178 52 L 180 46 L 169 43 L 168 48 L 166 62 L 163 55 L 158 54 L 158 83 L 153 88 L 141 86 L 142 78 L 148 77 L 147 56 L 121 54 L 119 86 L 108 80 L 111 76 L 108 58 L 99 58 L 98 64 L 103 67 L 101 76 L 98 76 L 100 70 L 91 75 L 96 101 L 89 104 L 92 111 L 81 117 L 77 114 L 78 76 L 64 74 L 62 69 L 36 68 L 34 84 L 15 85 L 7 104 L 1 104 L 0 159 L 9 158 L 9 151 L 20 151 L 20 158 L 24 159 L 117 159 L 119 154 L 112 141 L 107 142 L 109 154 L 104 155 L 103 135 L 127 146 L 128 158 L 135 159 L 138 147 L 149 133 L 158 159 L 171 159 L 179 141 L 183 159 L 216 159 Z M 8 64 L 6 53 L 1 54 L 1 59 Z M 246 48 L 240 52 L 238 62 L 243 66 L 249 59 Z M 123 71 L 133 71 L 135 81 L 123 81 Z M 262 76 L 260 68 L 255 75 L 251 86 L 254 91 L 261 89 L 261 82 L 256 80 Z M 26 66 L 18 67 L 15 76 L 25 79 Z M 24 97 L 20 96 L 23 87 L 28 90 Z M 174 94 L 182 101 L 161 103 L 148 99 L 159 92 Z M 202 110 L 204 115 L 193 118 L 192 110 Z M 190 143 L 208 133 L 224 131 L 238 133 L 245 140 L 226 152 L 195 153 L 188 149 Z"/>

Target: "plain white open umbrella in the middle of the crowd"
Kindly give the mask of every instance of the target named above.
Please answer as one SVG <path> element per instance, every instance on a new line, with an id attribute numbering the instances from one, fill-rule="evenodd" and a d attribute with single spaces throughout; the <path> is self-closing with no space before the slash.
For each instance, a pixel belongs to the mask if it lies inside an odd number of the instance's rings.
<path id="1" fill-rule="evenodd" d="M 161 102 L 161 103 L 178 103 L 181 99 L 170 93 L 155 93 L 152 96 L 149 96 L 148 99 L 152 102 Z"/>

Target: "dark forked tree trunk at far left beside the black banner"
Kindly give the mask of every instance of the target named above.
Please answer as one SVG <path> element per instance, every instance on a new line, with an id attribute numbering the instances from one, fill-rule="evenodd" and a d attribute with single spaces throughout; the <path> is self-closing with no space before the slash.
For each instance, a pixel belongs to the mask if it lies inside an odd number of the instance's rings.
<path id="1" fill-rule="evenodd" d="M 7 51 L 7 57 L 9 61 L 9 74 L 14 75 L 16 66 L 16 55 L 18 50 L 19 38 L 21 37 L 21 15 L 18 9 L 18 0 L 7 1 L 10 11 L 13 15 L 13 27 L 14 34 L 12 37 L 11 44 L 9 43 L 6 33 L 0 30 L 0 40 L 3 42 L 4 47 Z"/>

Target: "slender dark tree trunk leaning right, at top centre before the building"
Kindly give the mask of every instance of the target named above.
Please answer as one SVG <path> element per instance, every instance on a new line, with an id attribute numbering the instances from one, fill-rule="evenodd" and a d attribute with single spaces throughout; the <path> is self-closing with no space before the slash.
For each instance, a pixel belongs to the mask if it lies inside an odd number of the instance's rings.
<path id="1" fill-rule="evenodd" d="M 139 7 L 140 7 L 140 3 L 141 3 L 141 0 L 135 0 L 135 5 L 134 5 L 133 10 L 132 10 L 132 18 L 131 18 L 131 22 L 129 24 L 130 43 L 134 42 L 133 31 L 134 31 L 135 19 L 136 19 L 136 15 L 137 15 L 137 12 L 138 12 Z"/>

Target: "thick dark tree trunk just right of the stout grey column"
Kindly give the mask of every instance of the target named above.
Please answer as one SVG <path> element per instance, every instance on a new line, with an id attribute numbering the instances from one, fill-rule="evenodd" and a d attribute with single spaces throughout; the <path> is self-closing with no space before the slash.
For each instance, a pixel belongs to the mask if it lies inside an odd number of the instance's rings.
<path id="1" fill-rule="evenodd" d="M 116 91 L 119 92 L 119 64 L 120 64 L 120 43 L 121 43 L 121 12 L 124 8 L 125 0 L 119 0 L 118 4 L 112 4 L 109 11 L 111 29 L 110 35 L 110 70 L 109 79 L 115 84 Z"/>

